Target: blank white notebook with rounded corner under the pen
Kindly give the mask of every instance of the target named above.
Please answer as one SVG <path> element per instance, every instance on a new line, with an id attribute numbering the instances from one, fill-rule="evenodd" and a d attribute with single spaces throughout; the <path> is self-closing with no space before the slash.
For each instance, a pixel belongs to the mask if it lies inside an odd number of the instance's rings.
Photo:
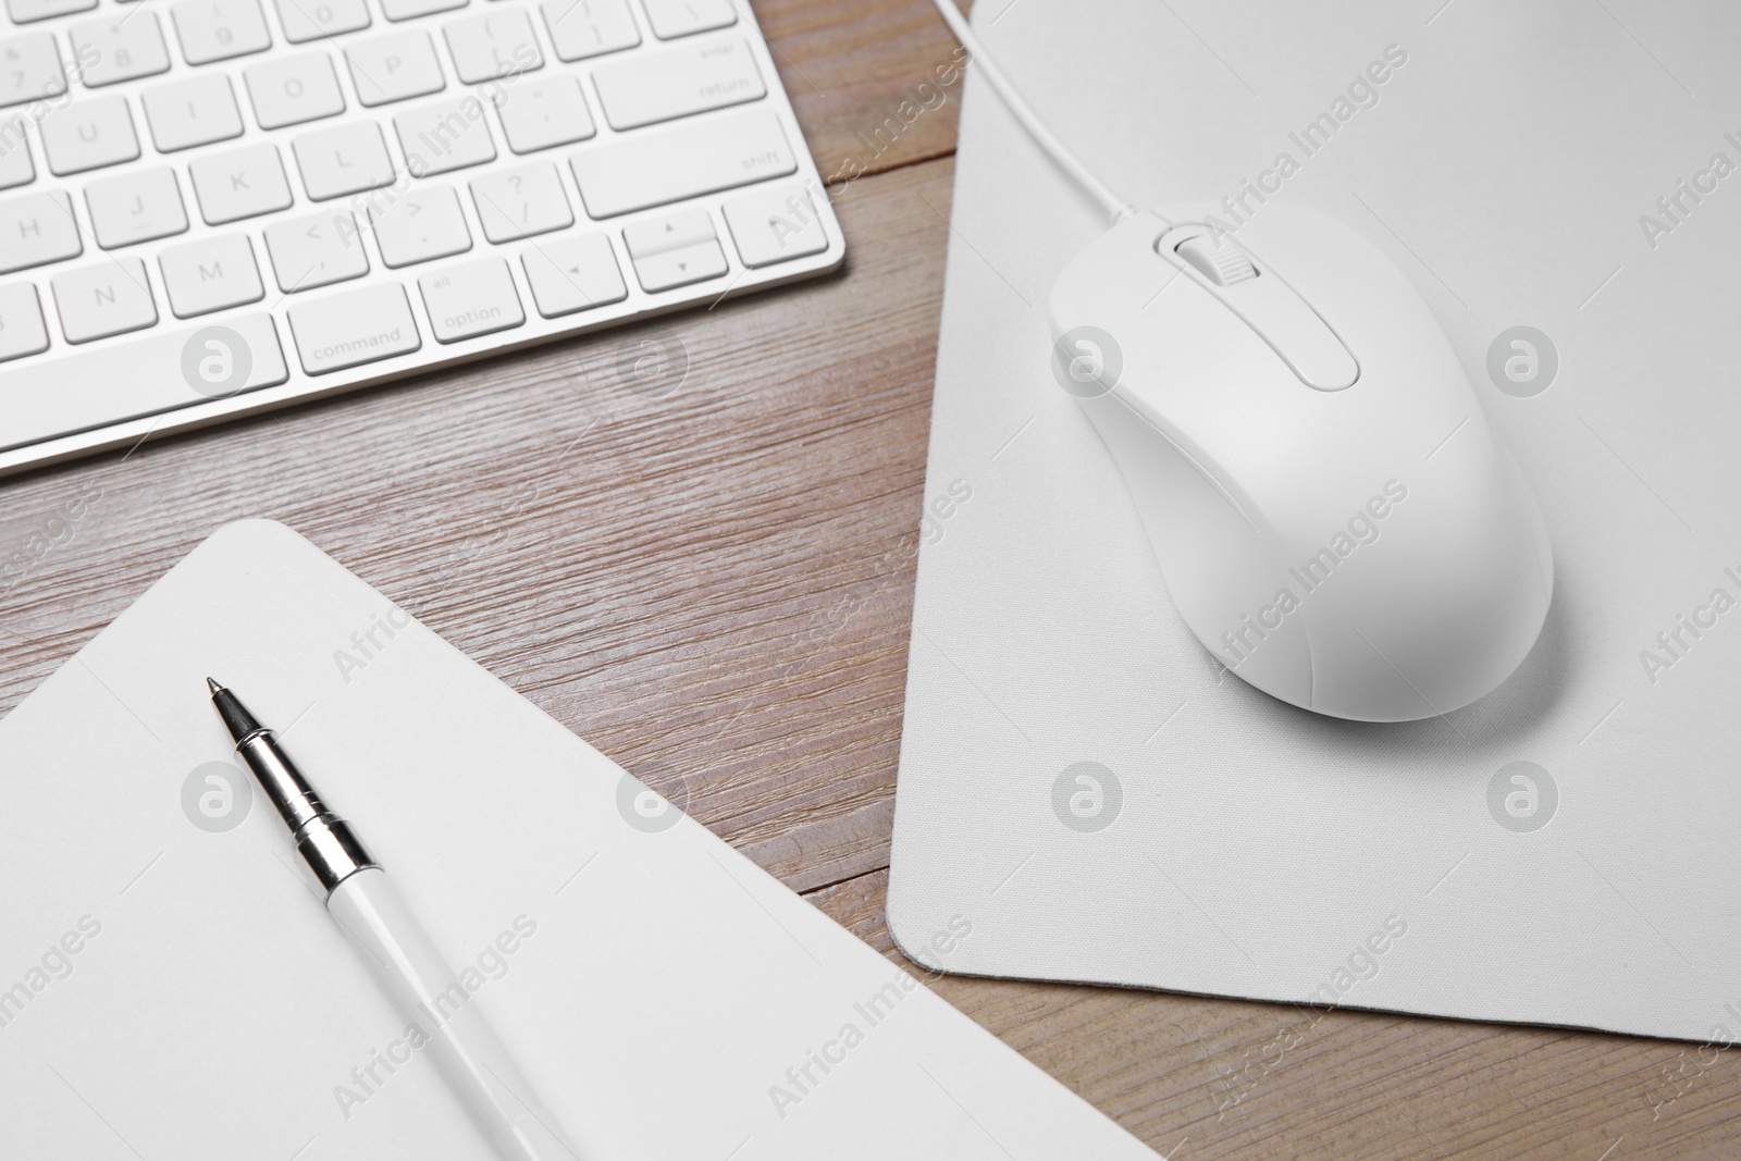
<path id="1" fill-rule="evenodd" d="M 270 804 L 225 801 L 207 674 L 280 728 L 588 1161 L 1154 1156 L 265 520 L 0 721 L 0 1156 L 489 1156 Z M 935 947 L 971 940 L 963 914 Z"/>

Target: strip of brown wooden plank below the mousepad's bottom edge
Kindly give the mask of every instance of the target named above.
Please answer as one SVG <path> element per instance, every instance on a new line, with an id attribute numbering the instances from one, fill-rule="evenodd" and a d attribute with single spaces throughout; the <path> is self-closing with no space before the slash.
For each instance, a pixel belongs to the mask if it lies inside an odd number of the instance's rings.
<path id="1" fill-rule="evenodd" d="M 810 898 L 1173 1161 L 1736 1156 L 1736 1050 L 938 976 L 895 949 L 886 891 Z"/>

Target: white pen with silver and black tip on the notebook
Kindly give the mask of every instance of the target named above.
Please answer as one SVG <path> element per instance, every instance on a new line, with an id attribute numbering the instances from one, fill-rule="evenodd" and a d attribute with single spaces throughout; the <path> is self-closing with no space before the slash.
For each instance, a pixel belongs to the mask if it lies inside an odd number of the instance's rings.
<path id="1" fill-rule="evenodd" d="M 233 693 L 211 677 L 212 705 L 259 787 L 279 808 L 296 849 L 327 893 L 327 912 L 355 943 L 503 1161 L 580 1161 L 475 1004 L 453 992 L 458 976 L 406 909 L 387 872 L 350 823 L 326 808 L 308 780 Z M 463 987 L 461 987 L 463 994 Z"/>

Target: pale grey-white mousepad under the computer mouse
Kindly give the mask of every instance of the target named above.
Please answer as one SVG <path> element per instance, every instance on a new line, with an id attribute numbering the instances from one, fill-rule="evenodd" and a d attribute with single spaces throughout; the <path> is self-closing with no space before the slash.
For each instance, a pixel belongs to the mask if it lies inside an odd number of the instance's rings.
<path id="1" fill-rule="evenodd" d="M 1621 16 L 975 5 L 1126 198 L 1226 198 L 1260 252 L 1267 190 L 1382 247 L 1534 484 L 1556 587 L 1513 679 L 1445 717 L 1332 721 L 1222 670 L 1050 372 L 1052 280 L 1104 225 L 970 80 L 890 886 L 909 956 L 1741 1036 L 1741 125 L 1715 111 L 1741 9 Z M 958 912 L 971 943 L 928 952 Z"/>

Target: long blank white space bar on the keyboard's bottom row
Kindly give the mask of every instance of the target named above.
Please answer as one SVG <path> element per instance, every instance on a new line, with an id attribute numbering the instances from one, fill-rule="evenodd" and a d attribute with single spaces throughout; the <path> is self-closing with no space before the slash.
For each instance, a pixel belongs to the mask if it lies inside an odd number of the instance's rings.
<path id="1" fill-rule="evenodd" d="M 240 390 L 291 378 L 268 315 L 225 319 L 247 346 L 249 376 Z M 209 400 L 188 386 L 181 353 L 198 329 L 160 331 L 125 343 L 59 352 L 50 362 L 7 367 L 5 386 L 31 400 L 0 411 L 0 447 L 21 447 L 70 432 L 174 411 Z"/>

